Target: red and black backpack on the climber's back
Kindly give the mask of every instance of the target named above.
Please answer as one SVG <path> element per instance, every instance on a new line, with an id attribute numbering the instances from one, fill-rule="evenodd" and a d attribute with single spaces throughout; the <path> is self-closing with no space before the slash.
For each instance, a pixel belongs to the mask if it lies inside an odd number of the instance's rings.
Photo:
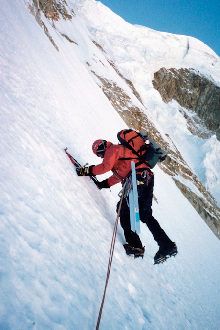
<path id="1" fill-rule="evenodd" d="M 135 164 L 139 166 L 146 164 L 153 168 L 157 162 L 162 162 L 166 159 L 167 153 L 162 150 L 156 142 L 154 142 L 144 131 L 136 132 L 134 130 L 122 130 L 118 132 L 119 142 L 130 149 L 137 158 L 119 158 L 120 160 L 139 159 Z"/>

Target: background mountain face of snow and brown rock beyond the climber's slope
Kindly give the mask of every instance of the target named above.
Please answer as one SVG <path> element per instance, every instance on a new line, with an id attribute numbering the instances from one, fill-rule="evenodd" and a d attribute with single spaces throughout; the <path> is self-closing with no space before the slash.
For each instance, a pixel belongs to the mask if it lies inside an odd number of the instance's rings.
<path id="1" fill-rule="evenodd" d="M 100 2 L 30 1 L 29 9 L 58 51 L 40 13 L 78 46 L 125 123 L 168 151 L 162 169 L 220 238 L 220 58 L 195 38 L 132 26 Z M 74 25 L 76 12 L 98 48 L 93 54 L 61 23 Z"/>

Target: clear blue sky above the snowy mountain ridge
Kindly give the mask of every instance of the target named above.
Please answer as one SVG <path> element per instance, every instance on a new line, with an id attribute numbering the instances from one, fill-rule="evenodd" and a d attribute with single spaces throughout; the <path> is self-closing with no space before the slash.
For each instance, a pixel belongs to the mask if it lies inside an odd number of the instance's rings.
<path id="1" fill-rule="evenodd" d="M 220 56 L 220 0 L 101 0 L 131 24 L 195 37 Z"/>

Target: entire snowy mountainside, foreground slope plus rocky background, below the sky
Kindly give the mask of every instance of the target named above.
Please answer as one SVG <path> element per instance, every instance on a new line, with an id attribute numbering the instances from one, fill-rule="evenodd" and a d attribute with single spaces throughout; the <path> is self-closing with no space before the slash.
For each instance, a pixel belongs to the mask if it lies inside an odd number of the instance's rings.
<path id="1" fill-rule="evenodd" d="M 0 329 L 95 329 L 121 186 L 63 149 L 98 164 L 130 127 L 168 152 L 153 214 L 179 253 L 155 267 L 142 225 L 134 260 L 119 228 L 100 330 L 219 330 L 220 58 L 94 0 L 4 0 L 0 72 Z"/>

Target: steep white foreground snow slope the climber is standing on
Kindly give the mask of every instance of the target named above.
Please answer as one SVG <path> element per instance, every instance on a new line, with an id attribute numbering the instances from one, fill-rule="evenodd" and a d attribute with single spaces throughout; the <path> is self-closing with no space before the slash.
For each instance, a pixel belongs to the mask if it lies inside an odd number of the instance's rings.
<path id="1" fill-rule="evenodd" d="M 84 22 L 61 22 L 85 41 L 80 51 L 44 20 L 57 52 L 21 1 L 2 1 L 1 330 L 90 330 L 97 322 L 120 185 L 98 191 L 63 149 L 97 164 L 92 142 L 116 143 L 125 124 L 83 63 L 86 51 L 97 52 Z M 154 172 L 154 216 L 179 254 L 155 267 L 158 247 L 142 225 L 146 253 L 134 260 L 119 228 L 100 330 L 218 330 L 220 241 L 173 180 Z"/>

